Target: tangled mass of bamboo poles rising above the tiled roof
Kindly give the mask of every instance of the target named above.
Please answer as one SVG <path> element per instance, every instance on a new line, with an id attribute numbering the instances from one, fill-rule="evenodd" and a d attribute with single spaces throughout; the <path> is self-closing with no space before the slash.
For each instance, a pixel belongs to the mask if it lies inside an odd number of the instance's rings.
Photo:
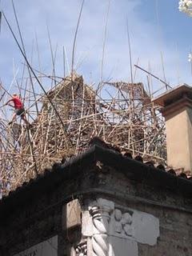
<path id="1" fill-rule="evenodd" d="M 142 82 L 103 82 L 98 95 L 73 72 L 46 95 L 36 93 L 35 97 L 29 85 L 18 88 L 23 91 L 30 129 L 19 117 L 9 126 L 6 106 L 1 108 L 3 194 L 42 174 L 54 162 L 79 154 L 94 136 L 146 161 L 165 162 L 165 124 Z M 9 92 L 1 88 L 3 99 Z"/>

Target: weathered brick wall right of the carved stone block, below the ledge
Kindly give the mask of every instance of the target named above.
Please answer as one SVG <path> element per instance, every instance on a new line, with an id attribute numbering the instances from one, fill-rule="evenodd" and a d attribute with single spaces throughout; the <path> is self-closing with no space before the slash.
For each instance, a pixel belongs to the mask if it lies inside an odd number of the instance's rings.
<path id="1" fill-rule="evenodd" d="M 146 256 L 190 256 L 192 254 L 192 222 L 191 214 L 182 214 L 173 210 L 155 210 L 149 207 L 159 217 L 160 236 L 155 246 L 138 245 L 138 255 Z"/>

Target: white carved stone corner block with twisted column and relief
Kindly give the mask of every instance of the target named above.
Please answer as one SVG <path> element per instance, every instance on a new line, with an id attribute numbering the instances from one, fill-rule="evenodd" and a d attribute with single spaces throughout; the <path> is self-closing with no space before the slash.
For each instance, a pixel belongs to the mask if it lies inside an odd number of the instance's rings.
<path id="1" fill-rule="evenodd" d="M 115 207 L 114 202 L 99 198 L 90 206 L 90 218 L 91 256 L 124 256 L 127 250 L 131 251 L 131 256 L 137 256 L 138 242 L 150 246 L 157 243 L 159 222 L 151 214 Z"/>

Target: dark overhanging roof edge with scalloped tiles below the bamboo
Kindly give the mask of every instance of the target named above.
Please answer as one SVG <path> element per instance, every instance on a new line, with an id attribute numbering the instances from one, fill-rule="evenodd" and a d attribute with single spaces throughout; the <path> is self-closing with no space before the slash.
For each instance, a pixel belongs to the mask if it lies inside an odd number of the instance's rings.
<path id="1" fill-rule="evenodd" d="M 141 156 L 133 159 L 129 152 L 121 154 L 118 147 L 110 146 L 99 138 L 93 138 L 89 146 L 82 154 L 71 157 L 69 160 L 62 159 L 61 163 L 54 163 L 51 170 L 45 170 L 44 174 L 38 175 L 30 182 L 24 182 L 22 186 L 3 197 L 0 201 L 0 217 L 2 210 L 10 210 L 21 202 L 38 196 L 50 186 L 53 187 L 54 184 L 74 178 L 83 168 L 97 161 L 102 162 L 104 166 L 111 166 L 114 170 L 121 171 L 127 178 L 138 182 L 146 180 L 150 181 L 151 186 L 178 191 L 185 197 L 192 195 L 192 179 L 187 178 L 186 174 L 176 176 L 174 170 L 166 171 L 162 165 L 154 167 L 154 162 L 144 163 Z"/>

